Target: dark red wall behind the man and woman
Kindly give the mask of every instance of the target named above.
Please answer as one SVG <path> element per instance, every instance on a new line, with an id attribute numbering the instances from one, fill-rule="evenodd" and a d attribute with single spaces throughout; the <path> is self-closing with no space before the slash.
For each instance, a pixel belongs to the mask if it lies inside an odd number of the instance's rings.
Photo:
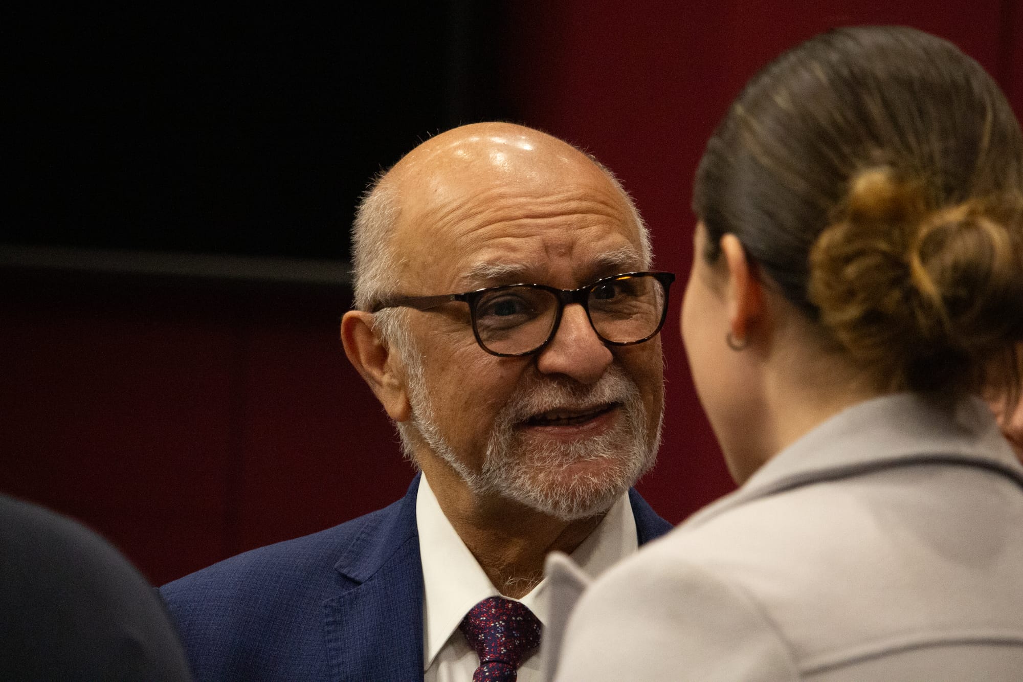
<path id="1" fill-rule="evenodd" d="M 615 169 L 658 266 L 680 276 L 664 446 L 639 486 L 669 520 L 730 489 L 677 333 L 690 184 L 728 101 L 818 31 L 904 24 L 977 58 L 1020 115 L 1021 4 L 509 3 L 506 85 L 523 121 Z M 0 491 L 85 521 L 154 583 L 379 508 L 412 476 L 338 341 L 343 289 L 17 267 L 0 285 Z"/>

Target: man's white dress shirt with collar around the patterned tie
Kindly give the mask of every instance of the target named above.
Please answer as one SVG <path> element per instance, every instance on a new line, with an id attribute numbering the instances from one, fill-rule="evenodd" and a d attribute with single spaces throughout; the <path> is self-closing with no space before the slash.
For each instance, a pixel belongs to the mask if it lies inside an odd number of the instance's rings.
<path id="1" fill-rule="evenodd" d="M 441 511 L 424 475 L 415 502 L 422 562 L 422 653 L 425 682 L 472 682 L 480 659 L 465 641 L 458 624 L 473 606 L 500 596 Z M 628 495 L 608 511 L 593 532 L 572 553 L 572 559 L 591 577 L 634 553 L 638 547 L 635 518 Z M 520 601 L 541 624 L 547 622 L 546 580 Z M 519 668 L 519 682 L 540 682 L 539 648 Z"/>

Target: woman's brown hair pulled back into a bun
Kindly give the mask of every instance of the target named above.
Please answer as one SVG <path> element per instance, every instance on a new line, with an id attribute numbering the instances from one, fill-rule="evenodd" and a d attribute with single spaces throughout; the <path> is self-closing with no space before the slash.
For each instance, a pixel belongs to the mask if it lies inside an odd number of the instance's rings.
<path id="1" fill-rule="evenodd" d="M 951 43 L 830 31 L 746 85 L 707 144 L 704 257 L 736 235 L 879 390 L 1020 392 L 1023 135 Z"/>

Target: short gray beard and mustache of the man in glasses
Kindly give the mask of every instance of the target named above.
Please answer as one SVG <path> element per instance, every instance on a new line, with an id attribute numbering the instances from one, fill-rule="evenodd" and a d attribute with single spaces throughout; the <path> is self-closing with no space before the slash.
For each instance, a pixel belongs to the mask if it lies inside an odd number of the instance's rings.
<path id="1" fill-rule="evenodd" d="M 409 353 L 413 354 L 413 353 Z M 412 417 L 399 424 L 406 455 L 411 455 L 414 429 L 431 451 L 454 469 L 475 496 L 498 495 L 549 516 L 574 521 L 603 513 L 653 466 L 661 441 L 662 408 L 655 433 L 648 428 L 639 387 L 617 365 L 591 386 L 564 380 L 538 379 L 520 386 L 501 409 L 487 440 L 479 472 L 465 465 L 444 438 L 434 417 L 418 357 L 405 358 Z M 581 409 L 620 403 L 618 424 L 591 438 L 571 442 L 529 442 L 516 425 L 555 409 Z M 596 472 L 564 471 L 579 462 L 603 461 Z"/>

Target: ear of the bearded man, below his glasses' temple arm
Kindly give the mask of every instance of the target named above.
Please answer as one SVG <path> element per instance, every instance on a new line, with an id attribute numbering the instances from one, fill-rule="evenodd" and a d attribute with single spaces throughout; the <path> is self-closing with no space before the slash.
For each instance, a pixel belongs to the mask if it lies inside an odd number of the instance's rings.
<path id="1" fill-rule="evenodd" d="M 341 318 L 341 342 L 349 361 L 369 384 L 387 414 L 396 422 L 404 422 L 411 415 L 405 368 L 398 353 L 392 352 L 373 330 L 372 319 L 370 312 L 346 312 Z"/>

